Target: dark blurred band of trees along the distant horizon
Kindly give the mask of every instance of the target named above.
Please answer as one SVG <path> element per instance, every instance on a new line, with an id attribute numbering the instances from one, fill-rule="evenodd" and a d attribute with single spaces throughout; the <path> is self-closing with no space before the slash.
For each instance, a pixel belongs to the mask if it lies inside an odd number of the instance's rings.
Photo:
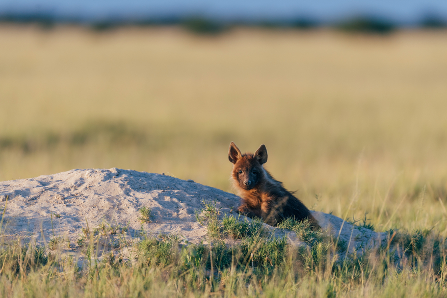
<path id="1" fill-rule="evenodd" d="M 42 29 L 51 29 L 56 25 L 81 25 L 94 31 L 107 31 L 124 26 L 166 26 L 180 25 L 183 28 L 197 34 L 219 34 L 236 26 L 251 26 L 271 29 L 300 29 L 335 28 L 347 32 L 363 32 L 388 34 L 397 29 L 445 29 L 447 21 L 434 15 L 427 15 L 418 23 L 411 25 L 399 24 L 390 19 L 372 15 L 358 15 L 346 18 L 338 22 L 320 22 L 309 17 L 296 17 L 281 20 L 257 20 L 257 21 L 222 21 L 201 15 L 189 17 L 165 17 L 165 18 L 121 18 L 102 20 L 81 20 L 76 18 L 58 17 L 50 13 L 6 13 L 0 12 L 0 24 L 37 24 Z"/>

